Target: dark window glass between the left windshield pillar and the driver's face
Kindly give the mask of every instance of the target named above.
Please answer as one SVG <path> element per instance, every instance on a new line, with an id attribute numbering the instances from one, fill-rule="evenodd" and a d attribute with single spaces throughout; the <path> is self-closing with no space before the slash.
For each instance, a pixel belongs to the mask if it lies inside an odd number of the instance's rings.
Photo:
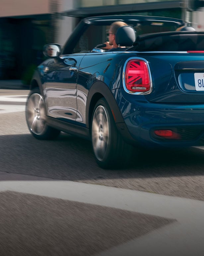
<path id="1" fill-rule="evenodd" d="M 77 41 L 73 53 L 90 52 L 96 45 L 107 41 L 106 30 L 106 26 L 89 26 Z"/>

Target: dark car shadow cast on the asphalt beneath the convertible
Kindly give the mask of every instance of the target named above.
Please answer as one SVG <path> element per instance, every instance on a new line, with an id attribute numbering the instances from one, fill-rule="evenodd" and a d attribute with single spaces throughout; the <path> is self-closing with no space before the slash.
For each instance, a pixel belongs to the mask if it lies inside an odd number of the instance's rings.
<path id="1" fill-rule="evenodd" d="M 52 141 L 30 134 L 0 136 L 1 171 L 49 176 L 54 179 L 92 179 L 204 174 L 204 150 L 199 148 L 136 150 L 131 167 L 103 170 L 95 162 L 91 142 L 61 133 Z M 133 154 L 134 155 L 134 154 Z M 135 158 L 135 159 L 134 159 Z"/>

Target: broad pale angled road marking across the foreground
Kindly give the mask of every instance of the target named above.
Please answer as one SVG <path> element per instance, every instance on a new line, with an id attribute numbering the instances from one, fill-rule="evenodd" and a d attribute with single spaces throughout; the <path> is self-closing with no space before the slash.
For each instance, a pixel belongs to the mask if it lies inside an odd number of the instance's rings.
<path id="1" fill-rule="evenodd" d="M 175 220 L 95 256 L 203 255 L 203 201 L 72 181 L 2 181 L 0 191 L 37 194 Z"/>

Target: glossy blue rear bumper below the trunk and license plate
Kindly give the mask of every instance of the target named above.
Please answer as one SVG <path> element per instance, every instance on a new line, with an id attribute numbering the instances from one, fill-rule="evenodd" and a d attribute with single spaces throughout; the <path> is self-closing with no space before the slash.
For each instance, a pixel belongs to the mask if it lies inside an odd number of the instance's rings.
<path id="1" fill-rule="evenodd" d="M 123 98 L 126 107 L 118 104 L 132 143 L 166 147 L 204 145 L 204 104 L 158 104 L 138 96 L 136 100 Z M 161 137 L 155 130 L 171 130 L 174 136 Z M 125 133 L 123 136 L 126 138 Z"/>

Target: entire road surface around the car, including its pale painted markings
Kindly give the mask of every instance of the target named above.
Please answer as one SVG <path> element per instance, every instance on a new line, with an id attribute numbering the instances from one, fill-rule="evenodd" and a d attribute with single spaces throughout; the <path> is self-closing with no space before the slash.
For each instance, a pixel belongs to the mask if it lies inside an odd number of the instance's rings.
<path id="1" fill-rule="evenodd" d="M 202 147 L 103 170 L 90 141 L 29 133 L 27 93 L 0 90 L 0 255 L 203 255 Z"/>

